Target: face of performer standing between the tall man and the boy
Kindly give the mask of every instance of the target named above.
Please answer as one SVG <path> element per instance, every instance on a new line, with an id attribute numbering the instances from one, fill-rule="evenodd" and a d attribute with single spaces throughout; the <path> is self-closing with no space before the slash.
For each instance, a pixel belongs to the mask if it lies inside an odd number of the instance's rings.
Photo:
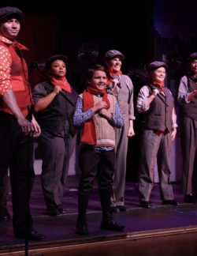
<path id="1" fill-rule="evenodd" d="M 66 66 L 65 62 L 63 62 L 61 59 L 56 59 L 54 62 L 50 64 L 50 69 L 48 71 L 50 76 L 61 78 L 65 77 L 66 74 Z"/>

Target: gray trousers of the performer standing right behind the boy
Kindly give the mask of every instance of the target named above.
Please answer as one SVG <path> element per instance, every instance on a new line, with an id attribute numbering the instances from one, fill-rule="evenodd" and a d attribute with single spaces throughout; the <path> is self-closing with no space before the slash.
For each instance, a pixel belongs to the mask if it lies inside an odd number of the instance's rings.
<path id="1" fill-rule="evenodd" d="M 113 176 L 113 193 L 111 206 L 125 205 L 125 179 L 128 152 L 128 122 L 116 133 L 116 162 Z"/>

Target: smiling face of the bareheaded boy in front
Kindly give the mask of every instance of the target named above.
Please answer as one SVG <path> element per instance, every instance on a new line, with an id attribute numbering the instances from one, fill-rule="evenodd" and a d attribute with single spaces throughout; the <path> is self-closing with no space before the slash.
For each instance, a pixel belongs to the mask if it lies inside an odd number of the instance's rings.
<path id="1" fill-rule="evenodd" d="M 89 81 L 89 84 L 93 88 L 98 88 L 100 91 L 103 91 L 106 89 L 106 72 L 101 70 L 95 70 L 93 73 L 91 80 Z"/>

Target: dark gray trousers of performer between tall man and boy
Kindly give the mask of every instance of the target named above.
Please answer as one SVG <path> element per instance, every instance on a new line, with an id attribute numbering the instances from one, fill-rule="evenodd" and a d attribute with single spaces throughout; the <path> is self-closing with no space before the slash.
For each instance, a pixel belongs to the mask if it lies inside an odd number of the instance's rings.
<path id="1" fill-rule="evenodd" d="M 71 139 L 71 138 L 70 138 Z M 46 130 L 39 137 L 43 160 L 41 183 L 47 209 L 61 205 L 69 171 L 69 138 L 55 137 Z"/>

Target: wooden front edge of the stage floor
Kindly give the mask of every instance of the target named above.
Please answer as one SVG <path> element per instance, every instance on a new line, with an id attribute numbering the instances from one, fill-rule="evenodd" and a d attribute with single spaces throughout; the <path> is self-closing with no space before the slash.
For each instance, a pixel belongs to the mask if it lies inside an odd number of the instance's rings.
<path id="1" fill-rule="evenodd" d="M 101 235 L 101 236 L 82 236 L 77 239 L 61 239 L 50 242 L 36 242 L 31 243 L 28 247 L 28 255 L 48 255 L 48 254 L 61 254 L 65 249 L 74 250 L 76 247 L 87 247 L 88 245 L 98 245 L 99 243 L 109 243 L 110 246 L 114 242 L 118 241 L 136 241 L 139 239 L 148 239 L 154 237 L 161 237 L 167 235 L 180 235 L 197 232 L 197 225 L 186 226 L 181 228 L 162 228 L 151 231 L 140 231 L 140 232 L 127 232 L 113 235 Z M 24 255 L 24 244 L 13 245 L 9 247 L 2 247 L 0 255 Z"/>

